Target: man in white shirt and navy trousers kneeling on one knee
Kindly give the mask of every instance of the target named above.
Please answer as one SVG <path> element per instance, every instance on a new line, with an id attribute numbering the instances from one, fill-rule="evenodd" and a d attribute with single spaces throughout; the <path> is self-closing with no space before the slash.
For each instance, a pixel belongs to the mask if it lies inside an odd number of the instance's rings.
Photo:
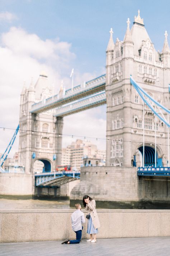
<path id="1" fill-rule="evenodd" d="M 76 233 L 76 240 L 69 240 L 66 239 L 63 243 L 80 243 L 81 241 L 81 234 L 82 234 L 82 223 L 85 223 L 85 217 L 84 213 L 81 212 L 81 205 L 80 203 L 75 204 L 76 211 L 72 213 L 71 215 L 71 224 L 72 224 L 72 229 Z"/>

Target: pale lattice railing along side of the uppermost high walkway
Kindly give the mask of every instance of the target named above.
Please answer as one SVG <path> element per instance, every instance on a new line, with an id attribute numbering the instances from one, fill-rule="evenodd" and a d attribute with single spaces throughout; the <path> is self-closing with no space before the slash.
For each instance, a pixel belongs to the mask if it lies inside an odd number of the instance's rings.
<path id="1" fill-rule="evenodd" d="M 46 99 L 45 102 L 41 101 L 41 102 L 38 102 L 38 103 L 34 103 L 32 105 L 32 108 L 31 108 L 31 111 L 34 111 L 38 108 L 41 108 L 42 106 L 45 106 L 45 105 L 51 105 L 52 103 L 54 102 L 57 102 L 57 101 L 60 101 L 62 98 L 67 98 L 68 96 L 72 96 L 76 93 L 81 93 L 87 89 L 90 89 L 91 87 L 94 87 L 94 86 L 97 86 L 97 85 L 102 85 L 105 83 L 106 81 L 106 75 L 102 75 L 102 76 L 99 76 L 99 77 L 96 77 L 95 79 L 93 80 L 90 80 L 88 82 L 86 82 L 84 85 L 78 85 L 78 86 L 75 86 L 73 89 L 68 89 L 65 91 L 65 94 L 62 95 L 61 97 L 59 97 L 59 95 L 54 95 L 53 97 L 50 97 L 48 99 Z"/>

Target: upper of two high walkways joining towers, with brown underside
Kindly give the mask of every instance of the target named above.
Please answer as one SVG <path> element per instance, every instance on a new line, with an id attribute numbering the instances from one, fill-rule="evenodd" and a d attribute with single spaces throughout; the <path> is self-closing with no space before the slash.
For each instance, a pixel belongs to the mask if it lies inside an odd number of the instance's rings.
<path id="1" fill-rule="evenodd" d="M 96 77 L 93 80 L 85 82 L 83 85 L 75 86 L 73 89 L 66 90 L 64 95 L 55 95 L 46 99 L 45 102 L 41 101 L 32 105 L 30 112 L 42 113 L 49 109 L 61 107 L 70 102 L 85 98 L 89 95 L 99 93 L 105 90 L 105 75 Z M 82 110 L 82 109 L 81 109 Z"/>

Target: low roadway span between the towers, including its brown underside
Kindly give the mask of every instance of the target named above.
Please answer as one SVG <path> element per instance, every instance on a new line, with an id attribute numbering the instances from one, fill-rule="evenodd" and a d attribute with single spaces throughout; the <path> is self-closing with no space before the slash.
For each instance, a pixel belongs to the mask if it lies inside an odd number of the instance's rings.
<path id="1" fill-rule="evenodd" d="M 70 181 L 80 179 L 80 171 L 57 171 L 35 174 L 36 187 L 60 187 Z"/>

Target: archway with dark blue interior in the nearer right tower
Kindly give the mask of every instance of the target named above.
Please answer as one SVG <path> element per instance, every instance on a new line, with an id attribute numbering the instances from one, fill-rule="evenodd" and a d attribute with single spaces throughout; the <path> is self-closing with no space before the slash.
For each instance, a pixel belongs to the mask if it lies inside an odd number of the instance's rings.
<path id="1" fill-rule="evenodd" d="M 134 166 L 136 166 L 136 155 L 140 158 L 140 166 L 143 163 L 143 145 L 138 145 L 134 154 Z M 156 147 L 156 166 L 163 166 L 162 163 L 163 152 L 159 146 Z M 145 166 L 155 166 L 155 144 L 145 143 Z"/>

